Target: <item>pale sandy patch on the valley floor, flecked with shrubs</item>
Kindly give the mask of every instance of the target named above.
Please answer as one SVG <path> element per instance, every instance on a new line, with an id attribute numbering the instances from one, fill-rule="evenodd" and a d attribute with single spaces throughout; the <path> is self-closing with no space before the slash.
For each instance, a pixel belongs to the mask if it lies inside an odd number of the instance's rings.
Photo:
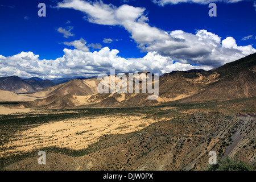
<path id="1" fill-rule="evenodd" d="M 105 134 L 125 134 L 138 131 L 154 123 L 145 119 L 146 115 L 105 115 L 102 117 L 84 117 L 51 122 L 32 129 L 16 133 L 11 142 L 3 147 L 0 156 L 19 152 L 40 150 L 43 147 L 57 146 L 80 150 L 97 142 Z"/>

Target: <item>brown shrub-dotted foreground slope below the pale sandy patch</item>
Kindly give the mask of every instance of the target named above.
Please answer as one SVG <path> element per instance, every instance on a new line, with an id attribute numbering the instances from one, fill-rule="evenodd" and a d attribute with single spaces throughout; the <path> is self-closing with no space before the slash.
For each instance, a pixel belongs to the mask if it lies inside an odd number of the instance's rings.
<path id="1" fill-rule="evenodd" d="M 34 157 L 5 169 L 202 170 L 209 164 L 209 151 L 216 151 L 218 160 L 229 154 L 255 167 L 255 124 L 255 113 L 192 114 L 162 120 L 132 133 L 103 135 L 85 151 L 66 153 L 55 148 L 59 152 L 51 154 L 52 150 L 45 148 L 46 165 L 38 165 L 38 156 L 33 153 Z"/>

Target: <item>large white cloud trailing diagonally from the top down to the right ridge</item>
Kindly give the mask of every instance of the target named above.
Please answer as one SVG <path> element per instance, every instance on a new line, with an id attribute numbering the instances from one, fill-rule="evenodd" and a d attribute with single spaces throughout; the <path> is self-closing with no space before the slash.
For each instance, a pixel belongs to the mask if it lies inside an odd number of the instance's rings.
<path id="1" fill-rule="evenodd" d="M 193 2 L 208 3 L 212 1 L 195 0 Z M 231 3 L 237 2 L 237 0 L 225 2 Z M 182 30 L 164 31 L 152 27 L 148 24 L 148 17 L 144 13 L 146 9 L 143 7 L 129 5 L 115 7 L 101 1 L 92 3 L 81 0 L 64 1 L 58 3 L 57 7 L 82 11 L 88 16 L 88 21 L 91 23 L 122 26 L 131 34 L 131 39 L 138 44 L 142 51 L 156 51 L 159 55 L 170 56 L 178 61 L 187 60 L 189 64 L 218 67 L 256 52 L 256 49 L 250 45 L 225 47 L 228 42 L 231 43 L 229 38 L 224 39 L 224 46 L 222 46 L 222 38 L 207 30 L 198 30 L 195 34 L 191 34 Z M 236 42 L 236 40 L 234 41 Z"/>

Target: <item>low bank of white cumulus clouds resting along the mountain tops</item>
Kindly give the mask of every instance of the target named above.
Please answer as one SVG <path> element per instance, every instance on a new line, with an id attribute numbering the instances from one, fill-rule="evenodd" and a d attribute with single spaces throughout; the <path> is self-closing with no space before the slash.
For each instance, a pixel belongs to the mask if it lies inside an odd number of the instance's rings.
<path id="1" fill-rule="evenodd" d="M 63 57 L 56 60 L 40 60 L 39 55 L 33 52 L 21 52 L 14 56 L 0 55 L 0 76 L 19 76 L 23 78 L 59 78 L 59 77 L 89 77 L 101 73 L 110 73 L 114 68 L 116 73 L 134 73 L 150 71 L 152 73 L 185 71 L 193 68 L 211 69 L 212 67 L 196 66 L 179 63 L 168 56 L 159 55 L 157 52 L 148 52 L 146 56 L 137 59 L 125 59 L 118 56 L 117 49 L 108 47 L 100 51 L 85 52 L 79 49 L 64 50 Z"/>

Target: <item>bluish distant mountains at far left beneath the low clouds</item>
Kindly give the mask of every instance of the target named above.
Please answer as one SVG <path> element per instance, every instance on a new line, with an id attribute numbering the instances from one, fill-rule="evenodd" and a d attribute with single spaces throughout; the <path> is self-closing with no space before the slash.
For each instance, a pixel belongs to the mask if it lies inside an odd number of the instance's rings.
<path id="1" fill-rule="evenodd" d="M 49 80 L 42 80 L 37 77 L 27 79 L 18 76 L 0 77 L 0 89 L 15 93 L 35 93 L 54 85 Z"/>

